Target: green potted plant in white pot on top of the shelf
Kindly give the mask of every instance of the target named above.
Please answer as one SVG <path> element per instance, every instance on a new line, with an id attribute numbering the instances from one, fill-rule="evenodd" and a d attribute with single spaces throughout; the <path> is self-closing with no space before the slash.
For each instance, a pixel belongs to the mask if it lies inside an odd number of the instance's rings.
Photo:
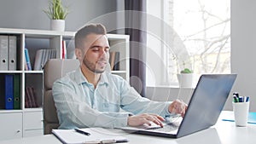
<path id="1" fill-rule="evenodd" d="M 48 9 L 44 9 L 44 13 L 48 15 L 50 19 L 50 29 L 53 31 L 65 30 L 65 19 L 69 10 L 67 7 L 63 7 L 61 0 L 49 1 Z"/>

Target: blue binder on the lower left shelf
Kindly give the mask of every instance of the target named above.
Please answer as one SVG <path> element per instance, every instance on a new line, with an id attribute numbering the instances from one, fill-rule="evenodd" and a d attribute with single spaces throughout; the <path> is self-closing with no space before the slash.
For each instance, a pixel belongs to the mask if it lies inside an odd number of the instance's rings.
<path id="1" fill-rule="evenodd" d="M 14 109 L 14 75 L 6 74 L 5 78 L 5 109 Z"/>

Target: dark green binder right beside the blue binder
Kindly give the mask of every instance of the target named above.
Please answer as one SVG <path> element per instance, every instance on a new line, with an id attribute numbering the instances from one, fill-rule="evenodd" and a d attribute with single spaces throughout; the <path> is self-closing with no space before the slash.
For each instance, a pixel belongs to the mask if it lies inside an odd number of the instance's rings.
<path id="1" fill-rule="evenodd" d="M 14 76 L 14 109 L 20 109 L 20 75 Z"/>

